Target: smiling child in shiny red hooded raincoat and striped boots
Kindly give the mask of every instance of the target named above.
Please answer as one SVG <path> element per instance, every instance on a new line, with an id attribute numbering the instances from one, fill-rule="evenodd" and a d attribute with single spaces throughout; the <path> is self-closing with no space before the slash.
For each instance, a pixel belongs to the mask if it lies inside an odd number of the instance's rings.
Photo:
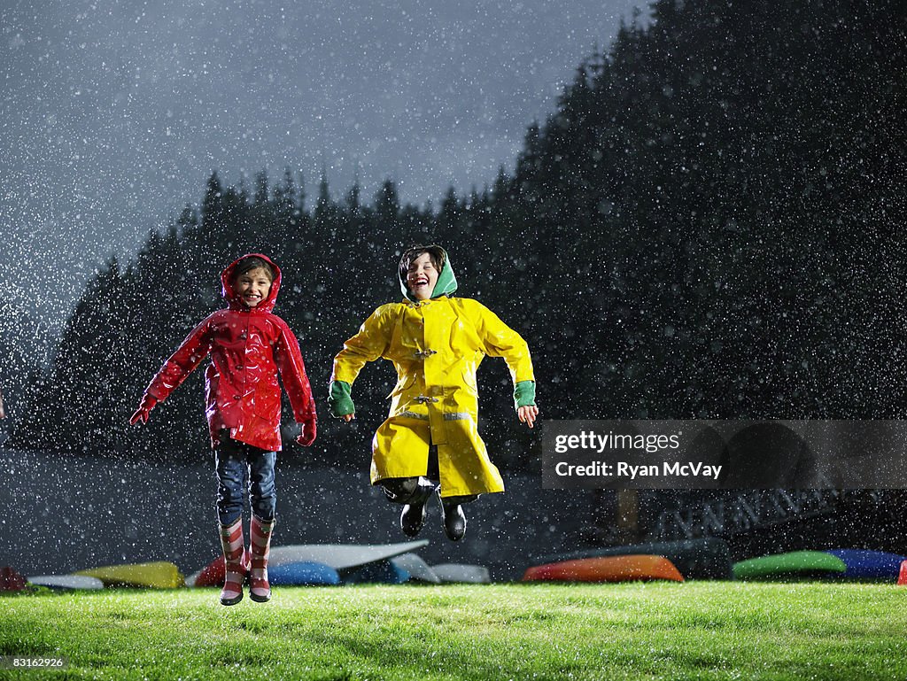
<path id="1" fill-rule="evenodd" d="M 280 288 L 280 268 L 258 253 L 243 256 L 220 275 L 228 306 L 204 319 L 182 342 L 141 397 L 130 423 L 147 423 L 151 409 L 180 385 L 201 360 L 205 414 L 218 475 L 217 510 L 226 579 L 225 606 L 249 597 L 270 598 L 268 550 L 275 523 L 274 462 L 280 450 L 278 371 L 302 432 L 297 443 L 315 442 L 316 412 L 296 336 L 271 313 Z M 247 482 L 248 481 L 248 482 Z M 242 534 L 243 499 L 250 492 L 249 550 Z"/>

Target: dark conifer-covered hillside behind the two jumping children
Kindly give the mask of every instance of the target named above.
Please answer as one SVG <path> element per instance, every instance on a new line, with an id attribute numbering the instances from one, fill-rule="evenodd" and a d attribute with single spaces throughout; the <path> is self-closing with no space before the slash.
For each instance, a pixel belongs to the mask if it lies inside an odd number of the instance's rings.
<path id="1" fill-rule="evenodd" d="M 343 340 L 399 298 L 401 248 L 427 242 L 530 342 L 545 417 L 899 418 L 904 19 L 884 1 L 658 2 L 580 64 L 512 175 L 437 207 L 402 206 L 389 180 L 367 203 L 327 180 L 310 200 L 289 171 L 250 188 L 215 173 L 200 209 L 93 278 L 15 439 L 204 452 L 201 372 L 147 430 L 126 419 L 249 251 L 283 268 L 276 312 L 323 397 Z M 357 382 L 353 428 L 321 400 L 308 458 L 364 465 L 390 374 Z M 531 465 L 502 363 L 480 380 L 495 460 Z"/>

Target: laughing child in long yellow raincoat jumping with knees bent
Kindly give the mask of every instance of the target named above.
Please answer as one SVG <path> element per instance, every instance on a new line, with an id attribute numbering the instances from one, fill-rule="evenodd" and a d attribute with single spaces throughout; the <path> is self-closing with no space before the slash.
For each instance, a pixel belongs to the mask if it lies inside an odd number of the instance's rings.
<path id="1" fill-rule="evenodd" d="M 485 355 L 504 358 L 520 421 L 532 428 L 539 413 L 532 358 L 491 310 L 452 297 L 457 283 L 444 248 L 409 248 L 399 276 L 405 300 L 378 307 L 346 341 L 334 358 L 327 403 L 351 421 L 351 386 L 362 367 L 379 357 L 394 363 L 390 413 L 372 440 L 372 484 L 404 505 L 400 527 L 410 537 L 422 530 L 425 503 L 437 491 L 444 533 L 456 541 L 466 531 L 462 504 L 504 489 L 479 436 L 476 369 Z"/>

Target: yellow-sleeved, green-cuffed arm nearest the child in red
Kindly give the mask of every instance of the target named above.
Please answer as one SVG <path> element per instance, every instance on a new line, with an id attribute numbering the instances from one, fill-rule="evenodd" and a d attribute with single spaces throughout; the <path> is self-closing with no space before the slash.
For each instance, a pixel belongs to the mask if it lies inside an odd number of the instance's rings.
<path id="1" fill-rule="evenodd" d="M 347 340 L 343 350 L 334 357 L 334 369 L 327 388 L 327 408 L 332 416 L 347 423 L 356 418 L 353 383 L 363 366 L 385 354 L 395 323 L 392 309 L 393 306 L 378 307 L 359 327 L 356 336 Z"/>

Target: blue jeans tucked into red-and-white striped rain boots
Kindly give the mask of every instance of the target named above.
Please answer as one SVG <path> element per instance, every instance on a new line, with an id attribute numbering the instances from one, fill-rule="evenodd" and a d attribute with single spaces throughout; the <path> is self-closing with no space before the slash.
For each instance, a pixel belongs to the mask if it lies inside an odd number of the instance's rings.
<path id="1" fill-rule="evenodd" d="M 240 443 L 221 433 L 220 445 L 214 450 L 218 474 L 218 520 L 231 525 L 242 516 L 243 503 L 249 496 L 252 512 L 261 520 L 272 520 L 278 494 L 274 488 L 274 462 L 277 452 L 266 452 L 251 444 Z"/>

